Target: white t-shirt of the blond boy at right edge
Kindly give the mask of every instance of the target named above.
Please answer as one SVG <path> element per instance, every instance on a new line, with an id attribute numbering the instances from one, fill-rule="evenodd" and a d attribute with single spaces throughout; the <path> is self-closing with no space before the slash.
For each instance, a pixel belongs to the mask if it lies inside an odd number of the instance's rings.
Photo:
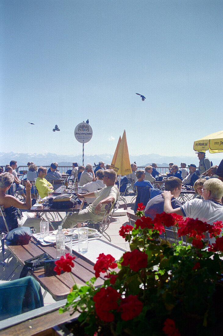
<path id="1" fill-rule="evenodd" d="M 217 220 L 223 222 L 223 206 L 211 200 L 205 201 L 195 198 L 186 202 L 180 209 L 184 216 L 193 219 L 198 218 L 211 225 Z"/>

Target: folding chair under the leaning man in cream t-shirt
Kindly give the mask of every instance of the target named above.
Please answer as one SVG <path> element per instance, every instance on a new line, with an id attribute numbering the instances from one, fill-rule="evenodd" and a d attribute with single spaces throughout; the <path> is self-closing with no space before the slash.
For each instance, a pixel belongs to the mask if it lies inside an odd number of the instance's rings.
<path id="1" fill-rule="evenodd" d="M 109 224 L 111 223 L 115 211 L 116 202 L 113 207 L 111 203 L 106 204 L 105 213 L 101 221 L 99 222 L 94 222 L 93 220 L 87 221 L 87 224 L 91 224 L 93 228 L 98 229 L 99 232 L 102 234 L 102 236 L 104 236 L 109 242 L 111 242 L 111 238 L 109 234 L 107 234 L 106 230 L 109 228 Z"/>

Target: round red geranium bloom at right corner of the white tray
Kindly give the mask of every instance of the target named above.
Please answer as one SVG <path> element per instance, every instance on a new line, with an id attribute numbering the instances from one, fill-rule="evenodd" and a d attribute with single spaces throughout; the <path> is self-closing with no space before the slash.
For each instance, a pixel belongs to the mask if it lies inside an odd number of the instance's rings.
<path id="1" fill-rule="evenodd" d="M 137 272 L 140 268 L 145 268 L 147 266 L 147 254 L 141 252 L 137 249 L 132 252 L 125 252 L 123 254 L 122 266 L 128 266 L 134 271 Z"/>

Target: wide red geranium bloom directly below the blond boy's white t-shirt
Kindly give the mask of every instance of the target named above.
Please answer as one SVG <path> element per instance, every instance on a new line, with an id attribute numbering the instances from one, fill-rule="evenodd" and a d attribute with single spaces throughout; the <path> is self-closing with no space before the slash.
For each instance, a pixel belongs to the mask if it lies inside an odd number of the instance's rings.
<path id="1" fill-rule="evenodd" d="M 189 235 L 201 240 L 205 237 L 204 232 L 211 229 L 212 225 L 202 222 L 199 219 L 186 218 L 185 221 L 179 222 L 178 237 Z"/>

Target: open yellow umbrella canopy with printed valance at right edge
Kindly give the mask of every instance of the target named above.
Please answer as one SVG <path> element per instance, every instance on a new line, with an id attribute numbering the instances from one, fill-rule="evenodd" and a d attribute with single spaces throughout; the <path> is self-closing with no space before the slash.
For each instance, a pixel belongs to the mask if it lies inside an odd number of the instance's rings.
<path id="1" fill-rule="evenodd" d="M 210 153 L 221 153 L 223 152 L 223 131 L 209 134 L 193 143 L 194 151 Z"/>

